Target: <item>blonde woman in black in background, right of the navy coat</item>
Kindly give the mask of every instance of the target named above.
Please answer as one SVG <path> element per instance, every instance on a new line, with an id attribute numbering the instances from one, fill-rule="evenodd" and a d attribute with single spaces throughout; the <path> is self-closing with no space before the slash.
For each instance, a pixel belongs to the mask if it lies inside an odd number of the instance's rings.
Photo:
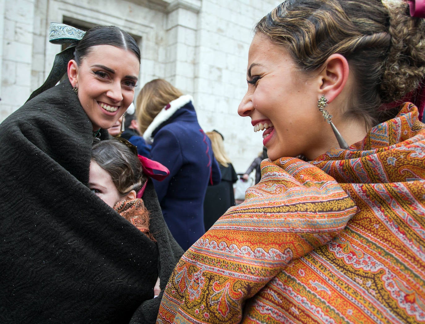
<path id="1" fill-rule="evenodd" d="M 238 180 L 238 175 L 224 150 L 224 137 L 216 131 L 207 132 L 211 140 L 212 152 L 218 162 L 221 171 L 221 182 L 207 188 L 204 200 L 204 223 L 205 230 L 218 220 L 229 207 L 235 206 L 235 194 L 233 184 Z"/>

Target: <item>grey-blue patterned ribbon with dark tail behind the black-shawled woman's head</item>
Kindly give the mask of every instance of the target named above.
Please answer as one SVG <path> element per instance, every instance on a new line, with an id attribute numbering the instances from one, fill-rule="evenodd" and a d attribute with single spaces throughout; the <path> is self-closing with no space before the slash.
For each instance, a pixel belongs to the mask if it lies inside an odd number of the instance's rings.
<path id="1" fill-rule="evenodd" d="M 54 87 L 54 85 L 59 82 L 59 80 L 66 72 L 68 61 L 74 58 L 75 46 L 77 46 L 78 42 L 82 39 L 84 34 L 85 31 L 82 31 L 81 29 L 69 25 L 57 22 L 50 23 L 49 42 L 53 44 L 69 44 L 69 46 L 66 47 L 65 50 L 62 50 L 62 52 L 56 54 L 53 62 L 53 67 L 46 81 L 40 88 L 35 90 L 30 95 L 28 100 L 31 100 L 43 91 Z"/>

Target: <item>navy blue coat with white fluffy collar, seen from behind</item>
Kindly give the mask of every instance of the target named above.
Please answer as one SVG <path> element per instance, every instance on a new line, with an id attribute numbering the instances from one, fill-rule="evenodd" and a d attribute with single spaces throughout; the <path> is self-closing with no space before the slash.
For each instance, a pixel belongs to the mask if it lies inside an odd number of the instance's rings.
<path id="1" fill-rule="evenodd" d="M 190 98 L 182 96 L 179 99 L 183 97 Z M 165 180 L 153 183 L 165 222 L 184 250 L 204 235 L 207 186 L 221 181 L 210 139 L 199 126 L 192 102 L 186 101 L 180 100 L 178 103 L 183 105 L 180 107 L 173 106 L 172 101 L 170 111 L 175 111 L 173 115 L 164 120 L 157 115 L 153 121 L 157 126 L 144 133 L 145 139 L 153 138 L 150 158 L 170 170 Z"/>

